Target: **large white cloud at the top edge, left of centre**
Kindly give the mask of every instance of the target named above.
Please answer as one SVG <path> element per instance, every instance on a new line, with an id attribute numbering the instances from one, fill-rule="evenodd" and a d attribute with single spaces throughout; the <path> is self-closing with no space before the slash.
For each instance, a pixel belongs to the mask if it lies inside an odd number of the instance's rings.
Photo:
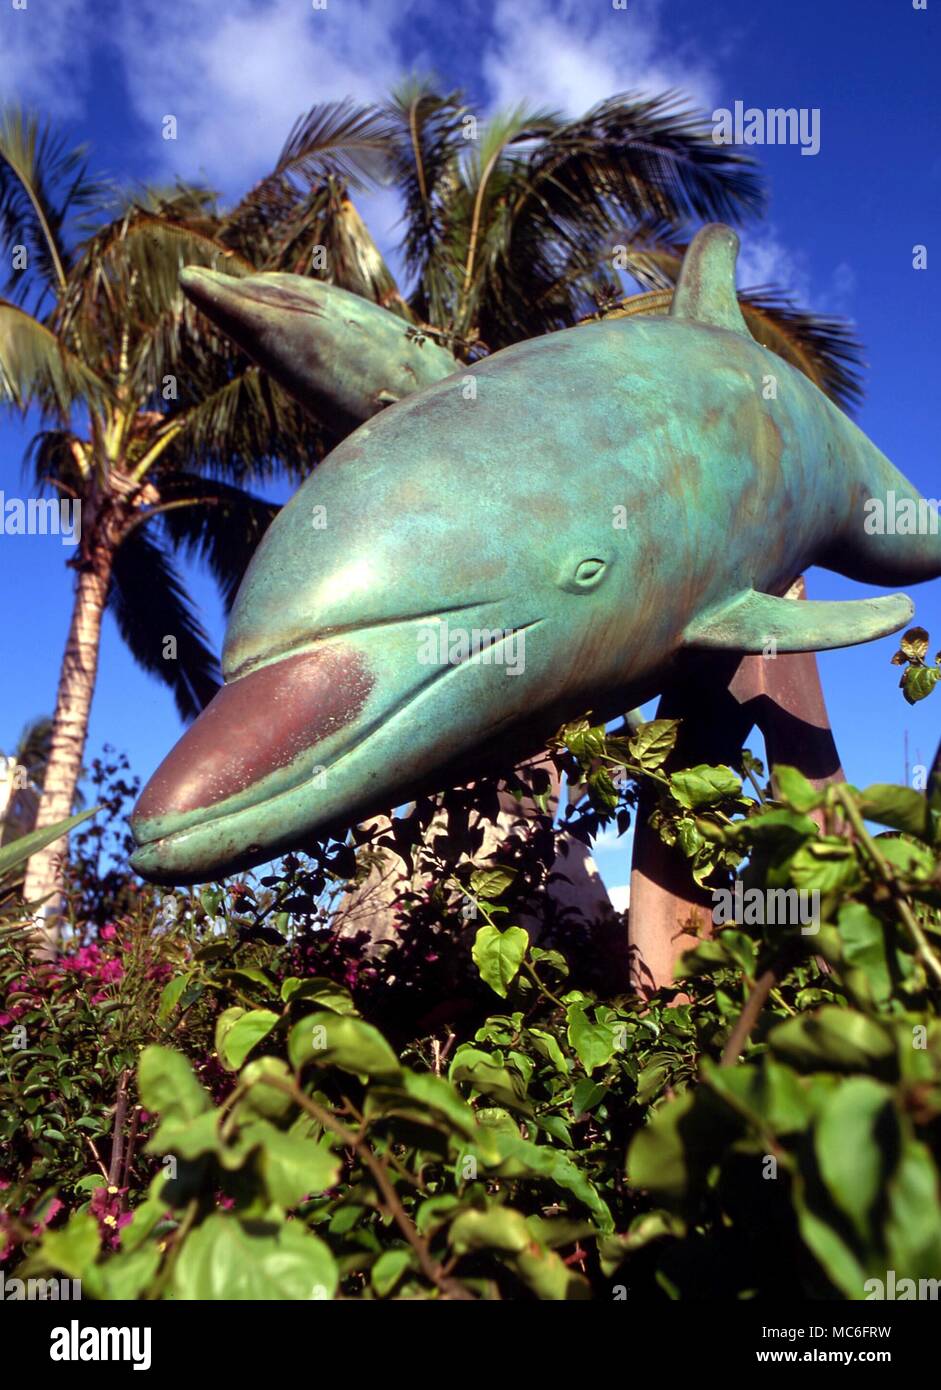
<path id="1" fill-rule="evenodd" d="M 320 101 L 367 101 L 402 72 L 395 31 L 409 6 L 384 0 L 122 0 L 113 40 L 135 114 L 153 132 L 154 172 L 235 193 L 271 168 L 297 117 Z M 178 139 L 163 139 L 175 115 Z"/>

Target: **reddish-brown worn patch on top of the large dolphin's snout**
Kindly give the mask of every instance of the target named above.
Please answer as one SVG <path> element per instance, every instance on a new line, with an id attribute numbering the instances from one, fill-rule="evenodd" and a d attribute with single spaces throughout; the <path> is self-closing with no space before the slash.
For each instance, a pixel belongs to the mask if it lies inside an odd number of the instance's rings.
<path id="1" fill-rule="evenodd" d="M 360 653 L 336 646 L 224 685 L 153 774 L 132 823 L 202 810 L 245 791 L 352 723 L 371 688 Z"/>

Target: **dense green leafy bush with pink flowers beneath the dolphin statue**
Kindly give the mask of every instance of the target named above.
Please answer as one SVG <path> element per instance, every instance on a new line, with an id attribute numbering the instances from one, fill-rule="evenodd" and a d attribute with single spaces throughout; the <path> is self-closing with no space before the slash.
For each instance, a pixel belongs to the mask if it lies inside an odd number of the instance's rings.
<path id="1" fill-rule="evenodd" d="M 96 1298 L 863 1298 L 890 1269 L 938 1277 L 941 794 L 778 767 L 773 796 L 748 755 L 669 770 L 676 735 L 585 720 L 552 749 L 585 788 L 573 833 L 623 830 L 646 783 L 695 880 L 741 883 L 742 920 L 649 1001 L 592 987 L 564 922 L 539 941 L 513 922 L 553 837 L 475 863 L 488 787 L 382 837 L 424 887 L 379 944 L 332 926 L 364 835 L 193 892 L 115 874 L 92 910 L 86 833 L 68 949 L 31 959 L 10 906 L 0 945 L 8 1268 Z M 106 766 L 117 812 L 132 788 Z M 751 920 L 752 888 L 819 894 L 813 923 Z"/>

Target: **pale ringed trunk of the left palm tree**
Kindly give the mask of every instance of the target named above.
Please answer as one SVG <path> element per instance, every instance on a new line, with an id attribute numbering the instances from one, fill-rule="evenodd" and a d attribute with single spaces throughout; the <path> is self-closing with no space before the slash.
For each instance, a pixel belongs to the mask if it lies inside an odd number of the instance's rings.
<path id="1" fill-rule="evenodd" d="M 38 830 L 65 820 L 72 812 L 97 677 L 101 614 L 108 596 L 111 564 L 113 550 L 100 546 L 78 574 L 72 621 L 58 677 L 46 780 L 36 816 Z M 42 954 L 54 951 L 58 941 L 65 853 L 67 841 L 57 840 L 33 855 L 26 865 L 25 902 L 46 899 L 38 915 L 38 945 Z"/>

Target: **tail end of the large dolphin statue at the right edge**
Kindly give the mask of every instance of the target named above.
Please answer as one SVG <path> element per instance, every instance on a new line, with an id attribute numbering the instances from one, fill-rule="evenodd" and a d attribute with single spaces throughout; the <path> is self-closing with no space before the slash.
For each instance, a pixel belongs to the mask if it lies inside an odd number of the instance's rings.
<path id="1" fill-rule="evenodd" d="M 852 480 L 846 524 L 820 564 L 863 584 L 941 577 L 941 507 L 923 498 L 845 416 L 840 460 Z"/>

